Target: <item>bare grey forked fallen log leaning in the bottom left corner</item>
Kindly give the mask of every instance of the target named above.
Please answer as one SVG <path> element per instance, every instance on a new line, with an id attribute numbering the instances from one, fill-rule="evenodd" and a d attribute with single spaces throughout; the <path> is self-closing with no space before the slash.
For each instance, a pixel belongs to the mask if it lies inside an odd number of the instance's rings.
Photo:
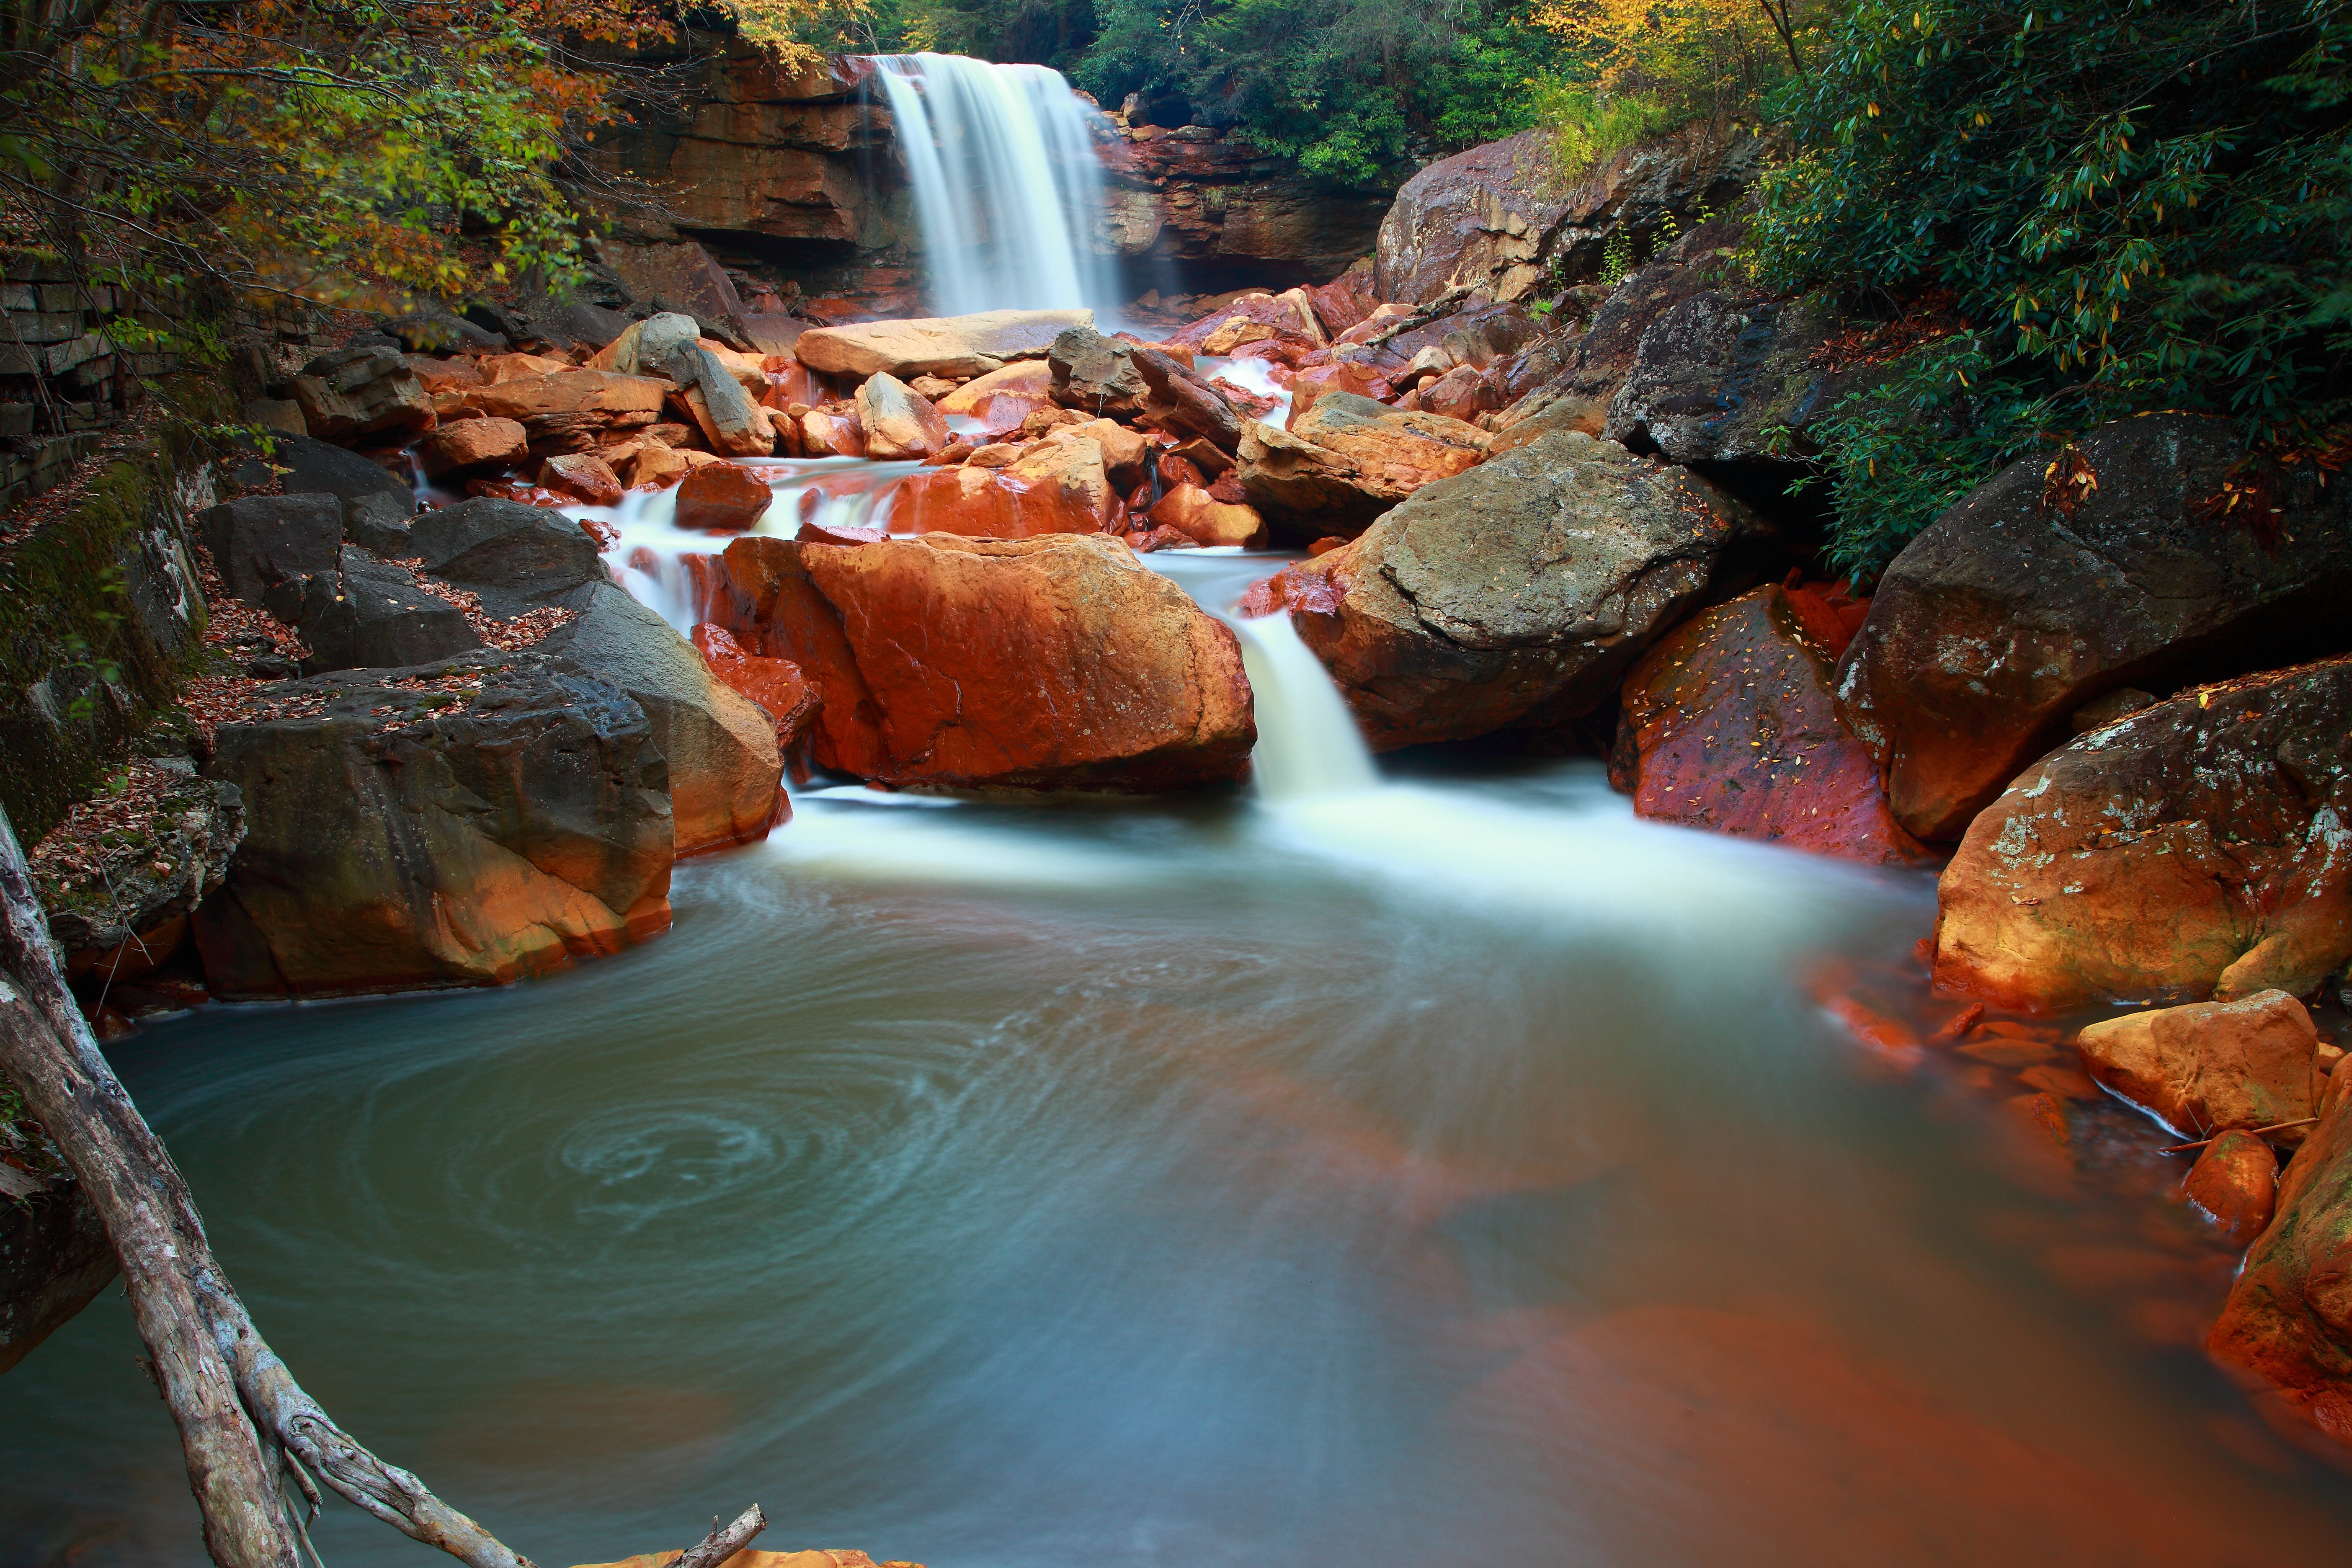
<path id="1" fill-rule="evenodd" d="M 308 1542 L 322 1481 L 468 1568 L 532 1568 L 414 1474 L 336 1427 L 254 1328 L 212 1255 L 186 1178 L 66 990 L 7 811 L 0 811 L 0 1072 L 14 1079 L 106 1222 L 155 1387 L 179 1425 L 212 1561 L 299 1568 L 296 1549 Z M 755 1505 L 706 1544 L 739 1530 L 750 1540 L 764 1523 Z M 713 1561 L 724 1556 L 731 1549 Z"/>

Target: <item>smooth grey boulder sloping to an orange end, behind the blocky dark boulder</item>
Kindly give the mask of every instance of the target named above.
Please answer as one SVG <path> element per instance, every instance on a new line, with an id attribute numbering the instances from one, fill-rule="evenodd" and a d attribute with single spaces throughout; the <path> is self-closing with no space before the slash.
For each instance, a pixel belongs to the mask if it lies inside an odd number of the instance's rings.
<path id="1" fill-rule="evenodd" d="M 536 646 L 644 710 L 668 759 L 680 856 L 767 835 L 783 780 L 774 726 L 668 621 L 614 585 L 579 524 L 515 501 L 466 501 L 419 517 L 416 543 L 426 571 L 477 592 L 494 616 L 572 614 Z"/>

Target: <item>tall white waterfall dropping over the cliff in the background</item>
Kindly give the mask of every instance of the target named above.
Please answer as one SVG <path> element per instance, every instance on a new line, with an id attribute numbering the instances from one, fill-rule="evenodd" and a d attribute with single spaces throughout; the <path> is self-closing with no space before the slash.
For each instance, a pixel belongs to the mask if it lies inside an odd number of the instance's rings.
<path id="1" fill-rule="evenodd" d="M 1117 266 L 1094 244 L 1103 214 L 1098 118 L 1044 66 L 962 54 L 882 54 L 931 308 L 1110 310 Z"/>

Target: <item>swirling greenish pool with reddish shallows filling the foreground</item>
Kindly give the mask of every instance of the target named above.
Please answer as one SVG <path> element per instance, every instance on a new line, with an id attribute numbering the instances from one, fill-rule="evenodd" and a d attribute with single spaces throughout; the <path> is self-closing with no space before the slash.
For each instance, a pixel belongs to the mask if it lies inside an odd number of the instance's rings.
<path id="1" fill-rule="evenodd" d="M 619 959 L 113 1056 L 308 1387 L 546 1566 L 2331 1561 L 2345 1481 L 2082 1288 L 2150 1220 L 1818 1009 L 1931 900 L 1588 762 L 840 788 Z M 0 1380 L 0 1561 L 202 1561 L 139 1354 L 108 1293 Z"/>

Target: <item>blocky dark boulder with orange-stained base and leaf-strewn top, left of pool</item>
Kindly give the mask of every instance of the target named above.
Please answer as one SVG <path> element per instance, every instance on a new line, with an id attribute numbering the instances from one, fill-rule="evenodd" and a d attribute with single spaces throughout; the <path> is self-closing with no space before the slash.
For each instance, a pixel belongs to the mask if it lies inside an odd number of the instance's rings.
<path id="1" fill-rule="evenodd" d="M 543 654 L 270 686 L 205 773 L 249 823 L 195 912 L 223 999 L 499 985 L 670 924 L 652 726 Z"/>

